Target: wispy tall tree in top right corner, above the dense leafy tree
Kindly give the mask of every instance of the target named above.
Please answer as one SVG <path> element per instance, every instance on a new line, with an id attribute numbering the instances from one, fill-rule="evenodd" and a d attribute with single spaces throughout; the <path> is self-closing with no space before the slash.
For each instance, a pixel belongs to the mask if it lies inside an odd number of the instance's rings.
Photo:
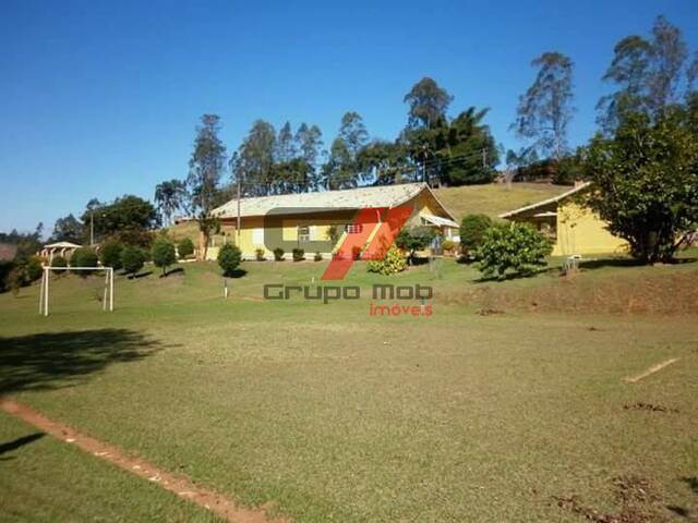
<path id="1" fill-rule="evenodd" d="M 614 84 L 615 90 L 597 105 L 598 121 L 607 135 L 628 115 L 657 118 L 691 93 L 698 59 L 687 63 L 688 50 L 681 29 L 664 16 L 657 17 L 649 38 L 625 37 L 613 51 L 603 81 Z"/>

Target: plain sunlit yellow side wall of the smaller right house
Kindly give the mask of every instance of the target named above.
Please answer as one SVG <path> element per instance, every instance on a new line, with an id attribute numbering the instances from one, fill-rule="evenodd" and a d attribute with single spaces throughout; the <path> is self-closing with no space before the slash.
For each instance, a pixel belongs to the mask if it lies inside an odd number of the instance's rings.
<path id="1" fill-rule="evenodd" d="M 605 222 L 589 209 L 574 203 L 557 206 L 557 242 L 553 256 L 622 253 L 626 242 L 611 234 Z"/>

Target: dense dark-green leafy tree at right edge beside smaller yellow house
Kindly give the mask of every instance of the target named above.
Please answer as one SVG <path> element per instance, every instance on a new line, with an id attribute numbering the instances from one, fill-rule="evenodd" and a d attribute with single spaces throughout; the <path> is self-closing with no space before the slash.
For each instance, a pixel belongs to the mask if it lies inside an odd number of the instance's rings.
<path id="1" fill-rule="evenodd" d="M 698 129 L 693 110 L 630 114 L 585 151 L 586 204 L 643 263 L 670 262 L 698 224 Z"/>

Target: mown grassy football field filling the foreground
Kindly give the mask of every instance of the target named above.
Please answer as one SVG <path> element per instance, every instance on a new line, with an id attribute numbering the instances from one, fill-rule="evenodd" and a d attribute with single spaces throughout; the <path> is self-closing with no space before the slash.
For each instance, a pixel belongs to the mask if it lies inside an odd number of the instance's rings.
<path id="1" fill-rule="evenodd" d="M 689 258 L 505 282 L 450 259 L 394 279 L 357 264 L 345 283 L 363 297 L 327 305 L 262 300 L 265 283 L 314 285 L 324 263 L 244 263 L 229 300 L 215 265 L 185 264 L 119 277 L 111 314 L 97 279 L 61 278 L 48 318 L 36 287 L 0 295 L 0 392 L 298 522 L 689 521 Z M 433 314 L 370 316 L 385 281 L 432 285 Z M 36 433 L 0 422 L 0 445 Z M 0 449 L 3 521 L 214 520 L 49 436 Z"/>

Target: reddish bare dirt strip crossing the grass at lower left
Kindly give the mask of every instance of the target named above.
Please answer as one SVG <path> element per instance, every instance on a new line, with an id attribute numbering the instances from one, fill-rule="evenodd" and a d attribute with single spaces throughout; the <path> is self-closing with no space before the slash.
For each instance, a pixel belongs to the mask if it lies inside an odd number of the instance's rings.
<path id="1" fill-rule="evenodd" d="M 224 495 L 196 486 L 185 476 L 158 469 L 145 460 L 129 455 L 123 450 L 95 438 L 79 433 L 70 426 L 50 419 L 45 415 L 22 405 L 14 400 L 0 399 L 0 409 L 35 427 L 50 434 L 55 438 L 77 446 L 85 452 L 108 461 L 124 471 L 153 482 L 176 495 L 215 512 L 226 521 L 234 523 L 289 523 L 287 519 L 270 519 L 265 508 L 245 509 L 236 504 Z"/>

